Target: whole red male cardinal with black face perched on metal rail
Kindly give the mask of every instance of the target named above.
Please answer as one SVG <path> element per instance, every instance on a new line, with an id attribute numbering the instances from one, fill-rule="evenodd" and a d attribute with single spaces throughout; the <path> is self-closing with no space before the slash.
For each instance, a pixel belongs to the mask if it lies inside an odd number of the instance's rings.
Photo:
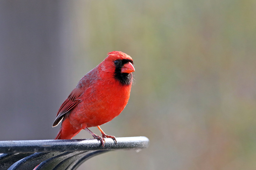
<path id="1" fill-rule="evenodd" d="M 118 116 L 126 106 L 132 87 L 132 57 L 112 51 L 94 69 L 78 82 L 76 88 L 62 103 L 52 127 L 61 121 L 61 127 L 55 139 L 72 139 L 82 129 L 101 141 L 114 136 L 106 135 L 100 125 Z M 97 126 L 102 137 L 88 128 Z"/>

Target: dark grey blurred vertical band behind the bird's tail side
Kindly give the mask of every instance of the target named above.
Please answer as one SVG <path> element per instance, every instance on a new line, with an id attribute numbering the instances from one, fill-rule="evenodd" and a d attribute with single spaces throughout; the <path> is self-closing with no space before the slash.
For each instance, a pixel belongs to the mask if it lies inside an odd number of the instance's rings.
<path id="1" fill-rule="evenodd" d="M 51 123 L 70 70 L 65 9 L 64 1 L 0 1 L 0 140 L 58 131 Z"/>

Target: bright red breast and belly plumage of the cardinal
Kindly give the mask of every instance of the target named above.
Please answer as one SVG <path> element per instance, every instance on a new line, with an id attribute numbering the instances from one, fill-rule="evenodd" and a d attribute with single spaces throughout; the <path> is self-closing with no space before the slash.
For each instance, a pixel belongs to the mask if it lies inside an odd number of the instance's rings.
<path id="1" fill-rule="evenodd" d="M 109 84 L 89 87 L 69 114 L 74 126 L 94 127 L 111 121 L 126 106 L 131 86 Z M 82 128 L 84 128 L 82 127 Z"/>

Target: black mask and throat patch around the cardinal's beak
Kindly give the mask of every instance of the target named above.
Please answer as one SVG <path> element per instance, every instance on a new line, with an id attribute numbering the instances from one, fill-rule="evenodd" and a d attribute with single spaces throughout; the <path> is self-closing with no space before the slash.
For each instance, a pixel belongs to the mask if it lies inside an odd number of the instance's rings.
<path id="1" fill-rule="evenodd" d="M 121 73 L 121 68 L 124 64 L 130 62 L 133 63 L 132 60 L 118 60 L 119 64 L 116 65 L 115 69 L 115 78 L 121 82 L 122 85 L 131 85 L 132 84 L 132 73 Z"/>

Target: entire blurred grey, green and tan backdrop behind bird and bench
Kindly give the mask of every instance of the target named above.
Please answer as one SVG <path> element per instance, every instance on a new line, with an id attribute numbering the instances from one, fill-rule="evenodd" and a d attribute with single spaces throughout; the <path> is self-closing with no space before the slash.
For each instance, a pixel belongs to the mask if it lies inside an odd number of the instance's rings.
<path id="1" fill-rule="evenodd" d="M 79 170 L 256 168 L 255 0 L 0 1 L 0 140 L 53 139 L 62 102 L 114 50 L 135 84 L 101 127 L 150 146 Z"/>

